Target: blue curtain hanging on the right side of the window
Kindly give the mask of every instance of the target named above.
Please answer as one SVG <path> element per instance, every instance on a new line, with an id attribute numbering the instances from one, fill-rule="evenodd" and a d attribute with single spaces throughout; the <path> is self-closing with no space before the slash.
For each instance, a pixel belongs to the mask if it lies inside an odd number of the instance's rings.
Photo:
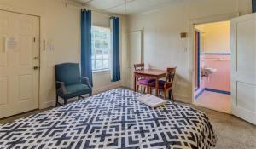
<path id="1" fill-rule="evenodd" d="M 120 80 L 120 61 L 119 61 L 119 18 L 111 17 L 112 21 L 112 82 Z"/>

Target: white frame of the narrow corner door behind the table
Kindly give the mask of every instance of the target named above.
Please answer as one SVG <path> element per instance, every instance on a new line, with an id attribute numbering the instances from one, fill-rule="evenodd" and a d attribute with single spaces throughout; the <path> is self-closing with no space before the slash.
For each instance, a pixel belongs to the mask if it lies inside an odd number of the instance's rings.
<path id="1" fill-rule="evenodd" d="M 126 87 L 130 87 L 130 82 L 127 82 L 128 80 L 126 80 L 126 67 L 127 67 L 127 43 L 126 43 L 126 38 L 127 38 L 127 34 L 129 33 L 132 33 L 132 32 L 141 32 L 142 34 L 142 37 L 141 37 L 141 63 L 144 62 L 144 28 L 138 28 L 138 29 L 135 29 L 135 30 L 129 30 L 127 32 L 125 32 L 125 86 Z"/>

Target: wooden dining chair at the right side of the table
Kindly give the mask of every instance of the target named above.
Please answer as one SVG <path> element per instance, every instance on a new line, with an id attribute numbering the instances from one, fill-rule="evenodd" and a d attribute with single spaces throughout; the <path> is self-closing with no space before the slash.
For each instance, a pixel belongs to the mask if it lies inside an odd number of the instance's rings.
<path id="1" fill-rule="evenodd" d="M 174 82 L 176 68 L 177 67 L 167 68 L 166 80 L 159 80 L 159 90 L 160 92 L 164 93 L 165 100 L 166 100 L 166 94 L 168 93 L 169 98 L 171 99 L 171 96 L 172 96 L 172 101 L 174 101 L 172 89 L 173 89 L 173 82 Z M 149 88 L 149 93 L 151 94 L 152 89 L 155 89 L 155 82 L 149 83 L 148 88 Z"/>

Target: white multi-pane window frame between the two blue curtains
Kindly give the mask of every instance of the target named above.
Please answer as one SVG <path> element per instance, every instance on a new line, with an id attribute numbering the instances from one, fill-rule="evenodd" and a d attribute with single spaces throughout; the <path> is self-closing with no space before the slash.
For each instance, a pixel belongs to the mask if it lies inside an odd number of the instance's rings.
<path id="1" fill-rule="evenodd" d="M 97 25 L 92 25 L 91 26 L 91 52 L 96 52 L 96 47 L 95 47 L 95 37 L 94 36 L 94 33 L 93 33 L 93 28 L 96 27 L 96 28 L 102 28 L 102 29 L 105 29 L 105 30 L 108 30 L 109 31 L 109 39 L 107 38 L 106 40 L 104 39 L 101 39 L 101 42 L 103 41 L 108 41 L 108 59 L 104 59 L 103 55 L 102 54 L 102 58 L 97 58 L 96 59 L 96 54 L 94 54 L 94 58 L 91 58 L 91 67 L 92 67 L 92 72 L 109 72 L 110 71 L 110 55 L 111 55 L 111 28 L 110 27 L 107 27 L 107 26 L 97 26 Z M 104 50 L 102 50 L 102 52 L 104 52 Z M 92 57 L 92 56 L 91 56 Z M 102 69 L 96 69 L 96 60 L 102 60 L 102 66 L 103 66 L 103 61 L 104 60 L 108 60 L 108 68 L 102 68 Z M 92 66 L 92 61 L 94 61 L 94 69 L 93 69 L 93 66 Z"/>

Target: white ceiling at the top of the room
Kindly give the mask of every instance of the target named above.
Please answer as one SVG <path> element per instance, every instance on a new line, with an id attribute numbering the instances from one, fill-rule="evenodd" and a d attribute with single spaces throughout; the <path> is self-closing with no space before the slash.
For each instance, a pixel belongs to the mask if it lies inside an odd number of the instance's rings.
<path id="1" fill-rule="evenodd" d="M 73 0 L 114 14 L 139 14 L 177 0 Z M 126 6 L 126 7 L 125 7 Z"/>

